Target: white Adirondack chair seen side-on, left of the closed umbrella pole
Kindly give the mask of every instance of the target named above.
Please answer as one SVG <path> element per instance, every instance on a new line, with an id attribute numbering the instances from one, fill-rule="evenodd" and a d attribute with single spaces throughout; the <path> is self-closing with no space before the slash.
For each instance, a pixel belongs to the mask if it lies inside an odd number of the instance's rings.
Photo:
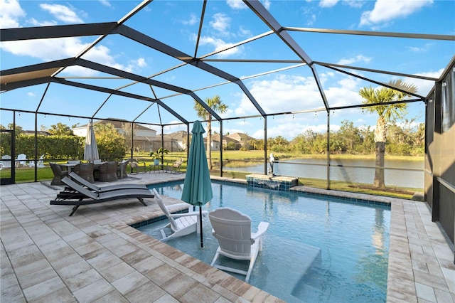
<path id="1" fill-rule="evenodd" d="M 198 227 L 199 225 L 199 212 L 198 211 L 193 211 L 193 206 L 188 203 L 178 203 L 178 204 L 173 204 L 173 208 L 183 208 L 183 207 L 188 207 L 188 213 L 171 213 L 169 209 L 164 205 L 163 199 L 161 199 L 161 196 L 159 193 L 156 191 L 156 189 L 153 189 L 154 195 L 155 195 L 155 200 L 156 203 L 158 203 L 159 208 L 161 208 L 161 211 L 168 217 L 169 223 L 165 225 L 164 227 L 160 228 L 161 236 L 163 237 L 161 241 L 167 241 L 172 238 L 177 238 L 181 237 L 182 235 L 189 235 L 190 233 L 194 233 L 197 231 L 199 233 L 200 228 Z M 203 211 L 203 216 L 207 216 L 208 212 Z M 166 235 L 164 230 L 166 228 L 171 228 L 172 233 L 171 235 Z"/>

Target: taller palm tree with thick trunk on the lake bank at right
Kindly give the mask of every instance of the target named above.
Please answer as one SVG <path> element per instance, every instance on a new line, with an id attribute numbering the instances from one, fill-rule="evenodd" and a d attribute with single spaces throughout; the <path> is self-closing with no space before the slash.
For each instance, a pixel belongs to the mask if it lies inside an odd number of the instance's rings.
<path id="1" fill-rule="evenodd" d="M 407 109 L 406 103 L 397 103 L 393 105 L 387 105 L 386 103 L 403 100 L 405 97 L 410 96 L 410 94 L 417 92 L 417 87 L 415 85 L 407 84 L 402 80 L 390 81 L 388 84 L 391 87 L 397 87 L 405 92 L 393 90 L 388 87 L 380 87 L 377 89 L 374 89 L 373 87 L 363 87 L 358 91 L 359 95 L 363 97 L 363 104 L 384 104 L 364 108 L 367 112 L 377 113 L 379 115 L 375 129 L 376 168 L 375 181 L 373 184 L 373 186 L 378 188 L 385 188 L 384 152 L 387 137 L 387 123 L 402 118 L 406 114 Z"/>

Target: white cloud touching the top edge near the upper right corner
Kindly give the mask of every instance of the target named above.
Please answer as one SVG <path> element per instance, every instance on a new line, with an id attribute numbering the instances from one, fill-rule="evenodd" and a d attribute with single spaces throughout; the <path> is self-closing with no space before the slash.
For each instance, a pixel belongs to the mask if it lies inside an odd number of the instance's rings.
<path id="1" fill-rule="evenodd" d="M 377 0 L 372 11 L 363 12 L 360 26 L 378 25 L 396 18 L 405 18 L 431 4 L 433 4 L 433 0 Z"/>

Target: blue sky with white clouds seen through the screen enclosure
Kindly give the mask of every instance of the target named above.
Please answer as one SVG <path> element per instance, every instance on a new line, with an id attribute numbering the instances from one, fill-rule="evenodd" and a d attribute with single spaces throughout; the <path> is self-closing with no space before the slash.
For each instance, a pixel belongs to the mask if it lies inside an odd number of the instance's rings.
<path id="1" fill-rule="evenodd" d="M 18 28 L 53 26 L 78 23 L 119 21 L 138 6 L 140 1 L 17 1 L 0 0 L 0 27 Z M 294 28 L 330 28 L 353 31 L 380 31 L 396 33 L 426 33 L 455 35 L 455 1 L 434 0 L 323 0 L 323 1 L 261 1 L 281 26 Z M 152 38 L 167 43 L 183 53 L 204 56 L 233 46 L 235 43 L 267 33 L 269 28 L 247 9 L 242 1 L 208 0 L 200 39 L 197 39 L 202 1 L 160 1 L 147 5 L 125 22 Z M 337 35 L 289 31 L 304 52 L 316 62 L 352 65 L 372 70 L 388 70 L 407 75 L 425 75 L 438 78 L 455 54 L 454 41 L 390 38 L 374 36 Z M 1 70 L 33 65 L 51 60 L 72 58 L 90 46 L 97 37 L 54 38 L 48 40 L 12 41 L 0 45 Z M 198 44 L 197 44 L 198 43 Z M 197 50 L 196 50 L 197 45 Z M 264 119 L 240 87 L 205 73 L 193 66 L 176 68 L 181 61 L 168 58 L 156 50 L 134 43 L 120 35 L 104 38 L 82 58 L 136 73 L 144 77 L 154 75 L 155 80 L 193 90 L 202 100 L 220 95 L 228 110 L 220 114 L 231 118 L 223 122 L 223 133 L 242 132 L 252 137 L 264 137 Z M 274 35 L 245 43 L 242 46 L 210 55 L 209 65 L 225 70 L 242 79 L 242 83 L 255 97 L 267 114 L 267 137 L 282 136 L 292 139 L 306 130 L 326 132 L 327 113 L 316 86 L 314 75 L 306 65 L 277 60 L 298 60 L 298 56 Z M 271 60 L 269 63 L 245 60 Z M 226 60 L 244 60 L 225 62 Z M 275 62 L 272 62 L 275 60 Z M 161 73 L 168 70 L 166 73 Z M 347 69 L 348 70 L 348 69 Z M 274 73 L 270 73 L 274 71 Z M 402 79 L 418 88 L 418 95 L 426 97 L 434 83 L 415 78 L 400 78 L 364 70 L 350 73 L 387 83 Z M 358 95 L 361 87 L 378 87 L 359 78 L 338 73 L 316 65 L 316 72 L 331 107 L 361 104 Z M 178 115 L 194 121 L 200 119 L 193 110 L 193 98 L 149 85 L 130 85 L 131 80 L 107 79 L 95 70 L 73 67 L 58 76 L 80 83 L 119 88 L 137 95 L 158 97 Z M 43 97 L 44 96 L 44 97 Z M 51 84 L 23 87 L 2 92 L 1 108 L 58 112 L 63 115 L 92 116 L 98 118 L 135 119 L 150 123 L 161 132 L 157 124 L 172 124 L 164 132 L 186 130 L 178 119 L 156 104 L 112 96 L 101 92 L 76 89 L 67 85 Z M 414 124 L 424 122 L 424 103 L 409 105 L 408 119 Z M 287 115 L 279 115 L 288 112 Z M 95 114 L 96 113 L 96 114 Z M 1 111 L 1 124 L 12 122 L 11 112 Z M 357 127 L 374 127 L 377 117 L 360 108 L 330 112 L 331 130 L 336 131 L 343 119 L 353 121 Z M 87 124 L 86 118 L 63 118 L 38 115 L 41 125 L 63 122 Z M 241 119 L 232 119 L 242 117 Z M 34 129 L 35 115 L 26 112 L 16 115 L 16 124 L 23 129 Z M 220 132 L 220 124 L 213 123 L 213 131 Z"/>

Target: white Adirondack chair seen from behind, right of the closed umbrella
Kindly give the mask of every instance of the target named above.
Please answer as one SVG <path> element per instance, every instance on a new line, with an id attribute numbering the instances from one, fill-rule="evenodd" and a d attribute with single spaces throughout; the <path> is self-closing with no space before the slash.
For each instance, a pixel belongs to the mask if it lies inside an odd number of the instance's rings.
<path id="1" fill-rule="evenodd" d="M 210 218 L 210 223 L 212 223 L 213 236 L 220 244 L 210 265 L 220 270 L 245 275 L 245 282 L 248 282 L 257 254 L 259 250 L 262 250 L 262 235 L 269 228 L 269 223 L 259 223 L 257 233 L 251 233 L 250 217 L 228 207 L 210 211 L 208 218 Z M 248 270 L 215 264 L 220 255 L 235 260 L 250 260 Z"/>

